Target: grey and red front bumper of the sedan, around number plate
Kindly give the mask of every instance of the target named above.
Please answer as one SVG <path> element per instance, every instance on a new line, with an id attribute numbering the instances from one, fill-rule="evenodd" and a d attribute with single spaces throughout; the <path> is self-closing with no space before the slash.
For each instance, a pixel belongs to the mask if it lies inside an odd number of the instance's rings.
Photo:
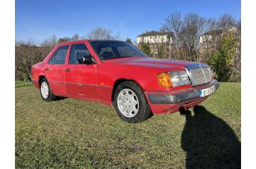
<path id="1" fill-rule="evenodd" d="M 212 80 L 208 84 L 188 89 L 176 90 L 172 92 L 145 92 L 149 101 L 149 106 L 154 114 L 169 114 L 181 108 L 189 108 L 203 102 L 207 97 L 200 97 L 200 90 L 212 87 L 218 89 L 217 80 Z"/>

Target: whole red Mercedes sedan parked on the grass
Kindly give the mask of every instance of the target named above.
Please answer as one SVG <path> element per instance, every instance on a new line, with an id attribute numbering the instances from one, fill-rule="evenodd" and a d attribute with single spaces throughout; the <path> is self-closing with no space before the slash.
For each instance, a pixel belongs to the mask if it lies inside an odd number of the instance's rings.
<path id="1" fill-rule="evenodd" d="M 32 67 L 44 101 L 71 97 L 114 106 L 129 123 L 203 102 L 218 89 L 203 63 L 151 58 L 119 40 L 77 40 L 57 45 Z"/>

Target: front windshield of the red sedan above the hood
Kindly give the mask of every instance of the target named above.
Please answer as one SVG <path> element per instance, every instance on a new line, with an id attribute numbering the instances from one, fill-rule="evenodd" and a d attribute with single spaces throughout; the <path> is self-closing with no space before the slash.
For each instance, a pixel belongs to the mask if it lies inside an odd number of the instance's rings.
<path id="1" fill-rule="evenodd" d="M 114 40 L 90 40 L 92 48 L 101 60 L 127 57 L 148 57 L 129 43 Z"/>

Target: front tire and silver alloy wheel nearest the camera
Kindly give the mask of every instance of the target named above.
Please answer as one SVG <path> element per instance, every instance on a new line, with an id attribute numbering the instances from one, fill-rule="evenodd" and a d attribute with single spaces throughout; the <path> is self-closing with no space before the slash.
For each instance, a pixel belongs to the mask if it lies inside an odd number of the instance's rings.
<path id="1" fill-rule="evenodd" d="M 125 81 L 114 91 L 114 108 L 123 121 L 137 123 L 149 119 L 153 114 L 143 90 L 132 81 Z"/>

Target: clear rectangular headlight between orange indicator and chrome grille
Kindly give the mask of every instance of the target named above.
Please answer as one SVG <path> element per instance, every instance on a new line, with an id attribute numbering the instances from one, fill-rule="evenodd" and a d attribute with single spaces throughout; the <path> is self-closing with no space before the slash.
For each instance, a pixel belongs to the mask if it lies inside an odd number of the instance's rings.
<path id="1" fill-rule="evenodd" d="M 191 84 L 191 81 L 189 80 L 185 70 L 169 72 L 169 75 L 171 77 L 171 83 L 173 87 Z"/>

